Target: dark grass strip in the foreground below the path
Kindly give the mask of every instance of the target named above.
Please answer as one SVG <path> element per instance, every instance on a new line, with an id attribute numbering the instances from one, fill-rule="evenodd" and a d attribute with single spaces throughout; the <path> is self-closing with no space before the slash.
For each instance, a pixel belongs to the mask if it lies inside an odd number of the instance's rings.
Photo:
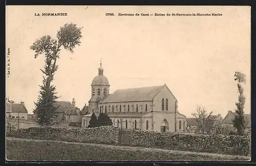
<path id="1" fill-rule="evenodd" d="M 230 161 L 250 159 L 243 156 L 12 138 L 6 141 L 6 156 L 7 160 L 23 161 Z"/>

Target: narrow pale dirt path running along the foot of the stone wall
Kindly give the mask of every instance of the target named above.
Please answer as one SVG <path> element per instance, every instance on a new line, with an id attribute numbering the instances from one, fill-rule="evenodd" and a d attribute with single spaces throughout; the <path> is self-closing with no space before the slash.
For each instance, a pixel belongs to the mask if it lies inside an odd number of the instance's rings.
<path id="1" fill-rule="evenodd" d="M 46 140 L 18 139 L 18 138 L 15 138 L 15 137 L 6 137 L 6 140 L 46 142 Z M 63 141 L 47 141 L 47 142 L 57 142 L 57 143 L 64 143 L 64 144 L 78 144 L 78 145 L 86 145 L 86 146 L 93 146 L 93 147 L 105 147 L 105 148 L 120 149 L 120 150 L 132 150 L 132 151 L 138 151 L 139 150 L 139 151 L 166 152 L 166 153 L 182 154 L 182 155 L 194 154 L 194 155 L 212 156 L 212 157 L 220 157 L 220 158 L 236 157 L 234 155 L 224 155 L 224 154 L 216 154 L 216 153 L 203 153 L 203 152 L 187 152 L 187 151 L 165 150 L 165 149 L 157 149 L 157 148 L 126 147 L 126 146 L 116 146 L 116 145 L 74 143 L 74 142 L 63 142 Z M 247 157 L 247 156 L 238 156 L 238 157 L 242 157 L 245 160 L 250 160 L 251 159 L 251 157 Z"/>

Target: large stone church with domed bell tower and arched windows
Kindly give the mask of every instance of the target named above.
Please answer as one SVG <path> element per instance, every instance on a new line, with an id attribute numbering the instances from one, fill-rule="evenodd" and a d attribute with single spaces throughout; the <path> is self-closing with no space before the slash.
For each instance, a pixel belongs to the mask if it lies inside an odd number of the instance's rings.
<path id="1" fill-rule="evenodd" d="M 116 90 L 110 94 L 108 78 L 100 63 L 98 75 L 91 84 L 89 114 L 82 116 L 82 127 L 88 127 L 93 113 L 108 114 L 113 125 L 123 129 L 158 132 L 184 132 L 186 117 L 178 112 L 178 101 L 164 84 L 161 86 Z"/>

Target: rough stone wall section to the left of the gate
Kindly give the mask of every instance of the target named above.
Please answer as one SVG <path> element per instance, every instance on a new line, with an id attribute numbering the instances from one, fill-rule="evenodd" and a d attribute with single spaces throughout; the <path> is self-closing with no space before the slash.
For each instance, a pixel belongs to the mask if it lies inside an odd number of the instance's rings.
<path id="1" fill-rule="evenodd" d="M 118 144 L 118 128 L 100 126 L 95 128 L 31 127 L 7 132 L 7 136 L 26 139 L 82 142 L 96 144 Z"/>

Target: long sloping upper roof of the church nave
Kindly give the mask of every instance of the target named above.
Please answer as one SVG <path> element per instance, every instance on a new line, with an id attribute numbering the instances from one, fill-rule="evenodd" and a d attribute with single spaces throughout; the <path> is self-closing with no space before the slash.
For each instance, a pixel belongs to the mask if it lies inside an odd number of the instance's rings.
<path id="1" fill-rule="evenodd" d="M 100 103 L 152 101 L 164 86 L 116 90 L 105 99 L 103 97 Z"/>

